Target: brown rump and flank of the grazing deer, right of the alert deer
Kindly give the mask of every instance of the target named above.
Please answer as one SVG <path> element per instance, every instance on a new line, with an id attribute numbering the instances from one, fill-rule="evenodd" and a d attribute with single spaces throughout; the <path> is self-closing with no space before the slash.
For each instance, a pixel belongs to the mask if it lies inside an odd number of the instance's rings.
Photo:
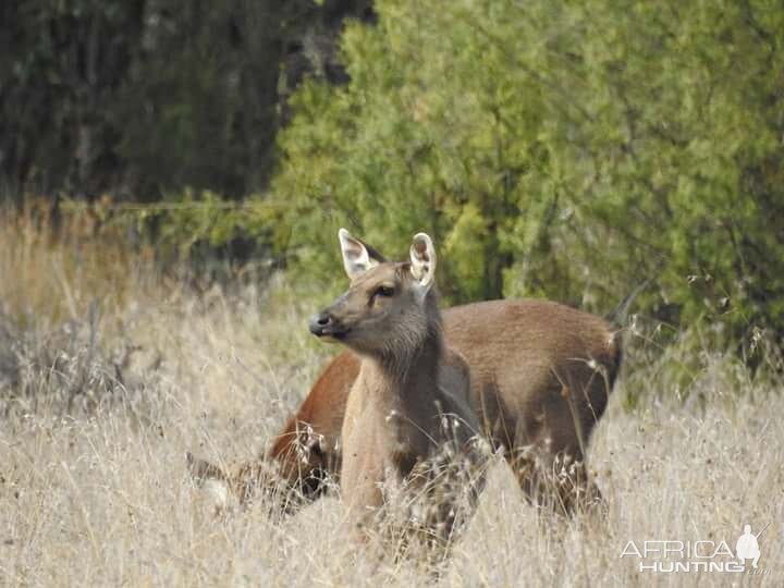
<path id="1" fill-rule="evenodd" d="M 547 301 L 495 301 L 454 308 L 449 332 L 471 366 L 474 407 L 494 445 L 549 443 L 584 457 L 621 359 L 607 321 Z"/>

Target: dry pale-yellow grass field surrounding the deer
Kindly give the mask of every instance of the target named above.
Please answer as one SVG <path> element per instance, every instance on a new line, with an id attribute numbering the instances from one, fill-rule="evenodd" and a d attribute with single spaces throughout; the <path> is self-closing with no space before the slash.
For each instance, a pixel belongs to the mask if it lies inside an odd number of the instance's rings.
<path id="1" fill-rule="evenodd" d="M 290 301 L 281 281 L 196 297 L 144 258 L 5 229 L 0 355 L 13 360 L 0 368 L 16 377 L 0 379 L 0 585 L 784 581 L 784 396 L 726 359 L 708 355 L 686 404 L 662 400 L 673 391 L 661 366 L 622 380 L 590 453 L 610 505 L 604 524 L 538 512 L 498 464 L 449 562 L 378 563 L 339 535 L 338 499 L 282 520 L 264 502 L 215 518 L 185 471 L 187 449 L 252 457 L 302 400 L 332 351 L 308 338 L 310 304 Z M 76 334 L 58 335 L 64 326 Z M 70 376 L 68 360 L 57 363 L 63 348 L 74 362 L 90 345 Z M 646 400 L 627 412 L 632 391 Z M 654 577 L 620 559 L 629 540 L 726 539 L 734 549 L 745 523 L 755 532 L 771 523 L 763 575 Z"/>

